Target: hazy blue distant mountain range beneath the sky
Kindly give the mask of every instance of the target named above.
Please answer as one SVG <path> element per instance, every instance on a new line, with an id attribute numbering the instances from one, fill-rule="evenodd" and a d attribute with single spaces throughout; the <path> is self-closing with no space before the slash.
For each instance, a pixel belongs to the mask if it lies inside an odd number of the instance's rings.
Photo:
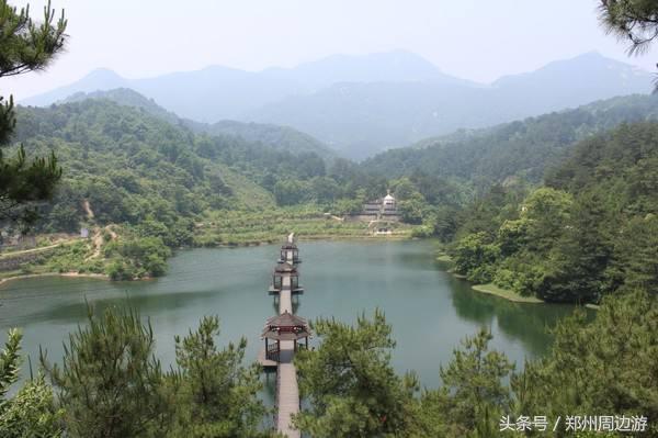
<path id="1" fill-rule="evenodd" d="M 588 53 L 483 85 L 442 72 L 405 50 L 334 55 L 294 68 L 243 71 L 213 66 L 126 79 L 94 70 L 79 81 L 23 100 L 48 105 L 75 94 L 129 88 L 183 119 L 290 126 L 341 155 L 362 159 L 424 137 L 648 93 L 651 75 Z M 234 121 L 234 122 L 227 122 Z"/>

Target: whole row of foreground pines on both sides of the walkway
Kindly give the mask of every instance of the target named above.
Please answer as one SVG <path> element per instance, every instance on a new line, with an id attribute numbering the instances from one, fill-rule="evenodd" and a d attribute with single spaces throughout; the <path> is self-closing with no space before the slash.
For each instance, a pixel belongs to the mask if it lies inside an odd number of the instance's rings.
<path id="1" fill-rule="evenodd" d="M 444 367 L 443 385 L 420 389 L 412 373 L 397 375 L 384 315 L 362 315 L 354 326 L 319 319 L 320 342 L 295 358 L 308 408 L 295 424 L 314 437 L 497 437 L 502 416 L 646 416 L 658 433 L 658 299 L 642 290 L 605 296 L 593 321 L 577 310 L 554 329 L 549 352 L 514 363 L 490 348 L 480 329 L 464 339 Z M 624 329 L 620 329 L 624 327 Z M 177 363 L 163 371 L 154 334 L 133 311 L 90 311 L 70 335 L 61 366 L 42 356 L 45 373 L 18 381 L 20 333 L 0 353 L 2 436 L 259 437 L 268 411 L 257 397 L 258 369 L 242 364 L 245 340 L 216 345 L 218 322 L 204 317 L 177 337 Z M 592 341 L 597 339 L 597 341 Z M 38 419 L 36 419 L 38 418 Z M 121 418 L 122 420 L 117 420 Z M 127 419 L 127 420 L 126 420 Z M 577 436 L 564 423 L 549 437 Z"/>

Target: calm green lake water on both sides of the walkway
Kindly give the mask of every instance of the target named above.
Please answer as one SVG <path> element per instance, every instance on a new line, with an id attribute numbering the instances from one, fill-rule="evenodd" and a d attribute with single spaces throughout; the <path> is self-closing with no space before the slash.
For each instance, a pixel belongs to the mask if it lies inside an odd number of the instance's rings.
<path id="1" fill-rule="evenodd" d="M 475 292 L 434 261 L 434 244 L 410 242 L 302 243 L 296 313 L 306 318 L 333 316 L 353 322 L 378 307 L 394 327 L 393 360 L 398 371 L 415 370 L 428 388 L 440 384 L 460 340 L 480 326 L 494 333 L 491 346 L 522 366 L 551 345 L 545 328 L 569 314 L 570 306 L 511 303 Z M 84 322 L 87 303 L 94 308 L 127 300 L 149 317 L 157 355 L 164 364 L 174 357 L 173 336 L 185 335 L 201 316 L 220 318 L 220 341 L 248 339 L 248 359 L 261 347 L 264 321 L 275 314 L 268 295 L 279 247 L 181 250 L 167 277 L 139 282 L 95 279 L 34 278 L 0 287 L 0 330 L 21 327 L 23 349 L 33 363 L 38 348 L 58 359 L 63 341 Z M 315 340 L 311 340 L 311 344 Z M 270 379 L 271 380 L 271 379 Z M 269 391 L 272 384 L 268 385 Z"/>

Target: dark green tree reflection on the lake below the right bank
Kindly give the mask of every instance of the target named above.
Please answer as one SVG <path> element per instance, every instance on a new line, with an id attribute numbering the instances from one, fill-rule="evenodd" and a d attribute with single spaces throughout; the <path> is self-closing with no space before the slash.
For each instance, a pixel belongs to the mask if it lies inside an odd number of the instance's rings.
<path id="1" fill-rule="evenodd" d="M 574 311 L 571 305 L 522 304 L 487 295 L 456 278 L 451 278 L 449 283 L 457 315 L 480 325 L 491 325 L 496 318 L 500 332 L 521 340 L 524 348 L 535 356 L 545 353 L 553 341 L 548 328 Z M 591 316 L 591 311 L 588 313 Z"/>

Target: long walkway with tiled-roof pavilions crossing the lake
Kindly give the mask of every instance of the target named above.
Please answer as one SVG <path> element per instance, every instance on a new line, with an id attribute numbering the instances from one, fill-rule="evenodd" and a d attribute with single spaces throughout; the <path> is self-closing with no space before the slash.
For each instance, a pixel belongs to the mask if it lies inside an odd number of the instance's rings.
<path id="1" fill-rule="evenodd" d="M 298 340 L 310 336 L 306 319 L 293 314 L 293 293 L 300 293 L 296 265 L 299 263 L 295 235 L 291 233 L 281 248 L 279 265 L 274 270 L 270 294 L 277 295 L 279 315 L 265 323 L 262 337 L 264 347 L 258 356 L 264 369 L 276 369 L 276 430 L 288 438 L 299 438 L 292 425 L 292 416 L 299 412 L 299 388 L 295 369 L 295 351 L 304 345 Z M 269 344 L 272 340 L 275 344 Z"/>

